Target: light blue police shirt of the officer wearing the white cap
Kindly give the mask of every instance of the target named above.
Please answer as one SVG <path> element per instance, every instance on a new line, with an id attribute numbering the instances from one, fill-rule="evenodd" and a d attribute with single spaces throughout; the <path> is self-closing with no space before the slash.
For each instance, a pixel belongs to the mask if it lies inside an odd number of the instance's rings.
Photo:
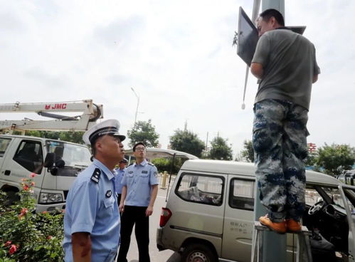
<path id="1" fill-rule="evenodd" d="M 97 183 L 94 172 L 100 170 Z M 91 261 L 111 262 L 120 240 L 120 213 L 115 194 L 114 174 L 97 159 L 78 174 L 71 187 L 65 208 L 65 262 L 73 261 L 71 235 L 88 232 L 91 237 Z"/>

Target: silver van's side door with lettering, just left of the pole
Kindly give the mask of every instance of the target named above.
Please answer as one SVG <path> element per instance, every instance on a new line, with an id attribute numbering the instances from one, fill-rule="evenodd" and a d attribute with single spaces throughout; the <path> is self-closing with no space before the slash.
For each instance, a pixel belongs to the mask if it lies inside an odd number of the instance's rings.
<path id="1" fill-rule="evenodd" d="M 228 175 L 221 256 L 224 259 L 250 261 L 254 190 L 253 178 Z"/>

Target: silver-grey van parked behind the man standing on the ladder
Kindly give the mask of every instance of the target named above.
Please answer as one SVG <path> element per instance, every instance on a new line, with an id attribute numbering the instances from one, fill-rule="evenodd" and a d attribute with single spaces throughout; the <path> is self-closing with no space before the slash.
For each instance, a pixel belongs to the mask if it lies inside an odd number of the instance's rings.
<path id="1" fill-rule="evenodd" d="M 323 236 L 322 241 L 334 248 L 334 259 L 354 261 L 355 187 L 327 174 L 306 174 L 304 226 L 314 234 L 319 231 L 317 236 Z M 200 159 L 184 162 L 161 212 L 157 247 L 178 251 L 184 262 L 249 262 L 254 191 L 254 164 Z M 292 261 L 294 246 L 293 235 L 287 234 L 287 261 Z M 316 243 L 312 248 L 312 253 L 317 253 L 315 249 L 322 249 L 322 245 L 317 247 Z M 323 261 L 331 261 L 324 253 L 327 259 Z"/>

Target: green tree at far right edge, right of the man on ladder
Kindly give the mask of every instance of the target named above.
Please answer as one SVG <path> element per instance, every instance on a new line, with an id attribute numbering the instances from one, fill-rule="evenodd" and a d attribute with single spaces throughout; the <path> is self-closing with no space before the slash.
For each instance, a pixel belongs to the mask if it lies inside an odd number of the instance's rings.
<path id="1" fill-rule="evenodd" d="M 319 147 L 316 164 L 324 172 L 337 176 L 344 170 L 352 169 L 355 162 L 355 149 L 349 145 L 324 145 Z"/>

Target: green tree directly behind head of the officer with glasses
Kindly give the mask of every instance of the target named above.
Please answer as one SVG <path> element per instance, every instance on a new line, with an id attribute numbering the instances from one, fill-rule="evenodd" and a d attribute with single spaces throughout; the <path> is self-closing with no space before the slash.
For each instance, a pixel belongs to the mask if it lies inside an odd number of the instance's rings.
<path id="1" fill-rule="evenodd" d="M 133 147 L 137 142 L 144 142 L 147 147 L 157 147 L 159 144 L 159 135 L 150 119 L 136 122 L 132 130 L 128 130 L 127 135 L 130 147 Z"/>

